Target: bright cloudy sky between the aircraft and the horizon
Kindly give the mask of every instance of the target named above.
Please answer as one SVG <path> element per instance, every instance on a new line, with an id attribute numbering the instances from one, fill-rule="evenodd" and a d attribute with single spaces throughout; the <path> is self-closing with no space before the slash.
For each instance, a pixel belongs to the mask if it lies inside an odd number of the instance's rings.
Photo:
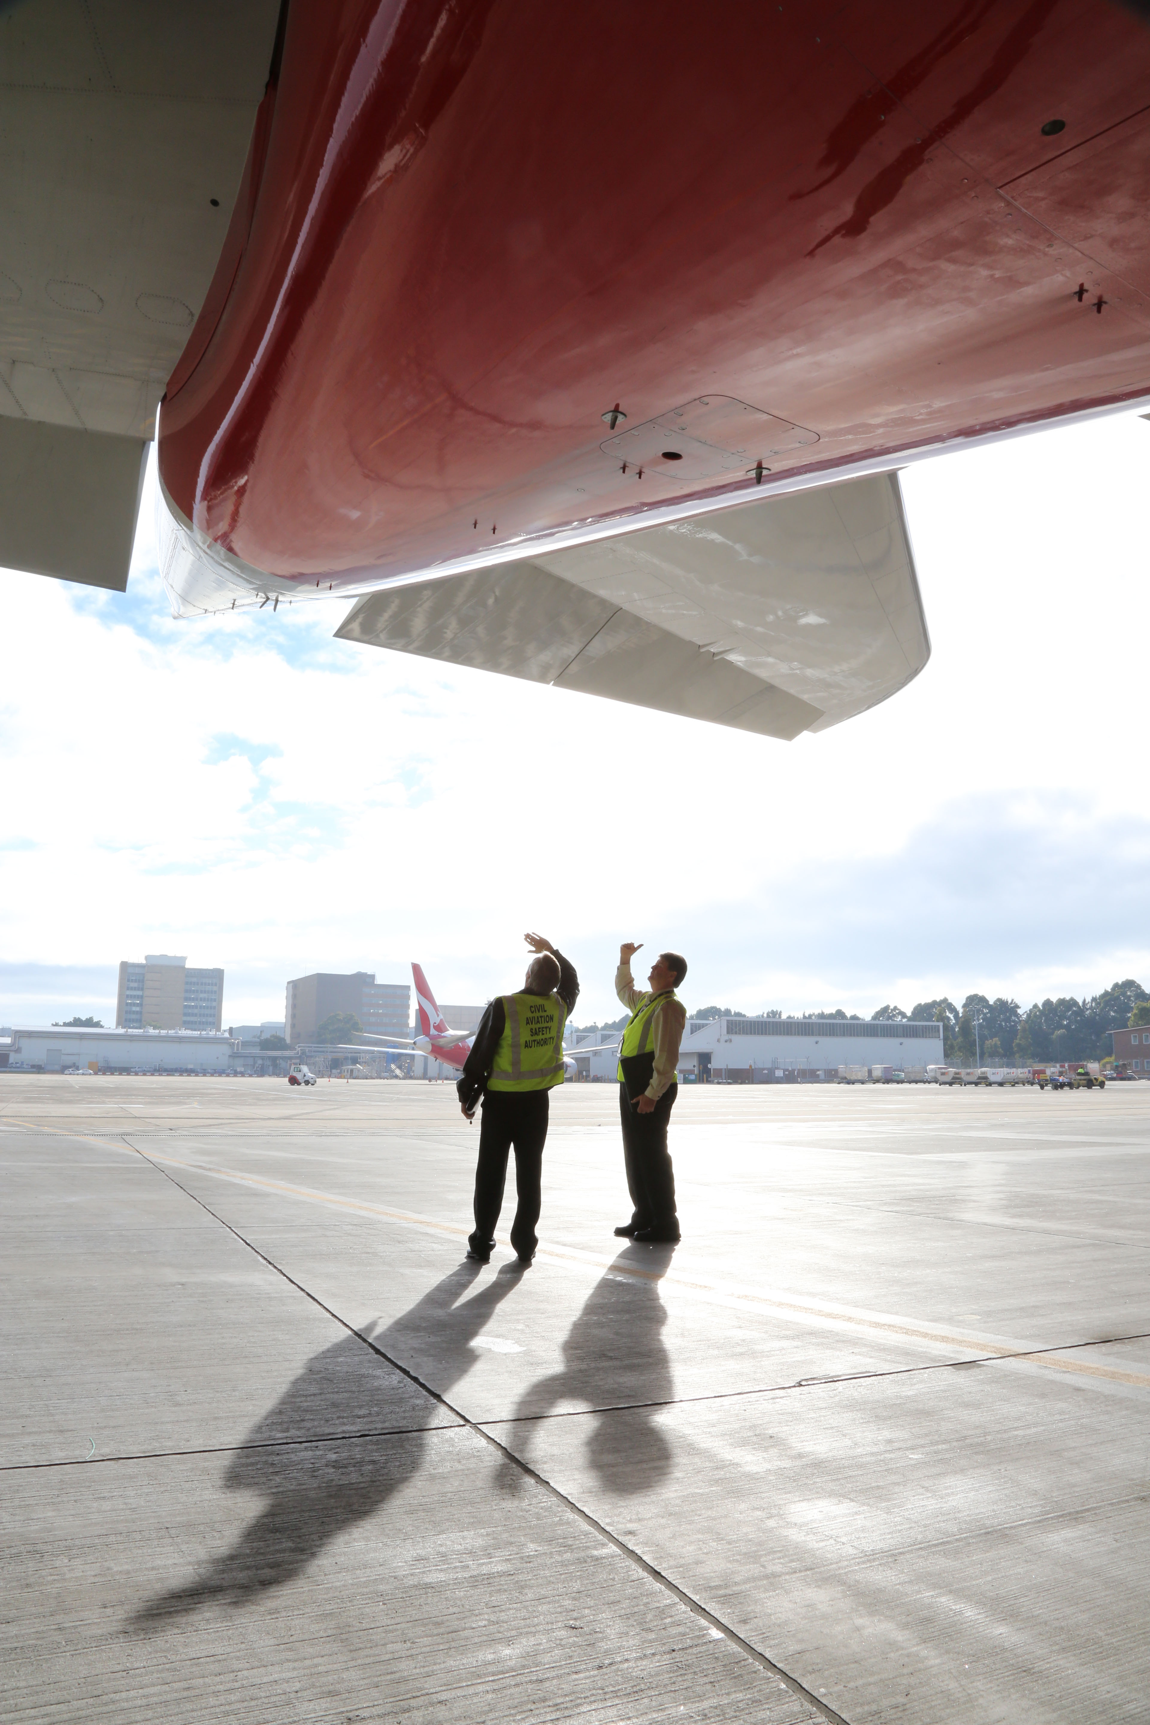
<path id="1" fill-rule="evenodd" d="M 624 938 L 688 1007 L 1150 983 L 1148 478 L 1136 416 L 909 469 L 933 657 L 793 743 L 334 642 L 347 602 L 174 623 L 145 493 L 126 595 L 0 571 L 0 1023 L 110 1023 L 145 952 L 222 964 L 226 1025 L 410 959 L 483 1000 L 526 928 L 579 1021 Z"/>

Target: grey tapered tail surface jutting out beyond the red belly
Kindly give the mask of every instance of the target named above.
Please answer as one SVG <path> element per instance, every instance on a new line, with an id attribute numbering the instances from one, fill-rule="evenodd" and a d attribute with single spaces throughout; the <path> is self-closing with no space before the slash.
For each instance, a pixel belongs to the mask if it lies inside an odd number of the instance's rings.
<path id="1" fill-rule="evenodd" d="M 890 473 L 383 588 L 336 635 L 784 740 L 929 657 Z"/>

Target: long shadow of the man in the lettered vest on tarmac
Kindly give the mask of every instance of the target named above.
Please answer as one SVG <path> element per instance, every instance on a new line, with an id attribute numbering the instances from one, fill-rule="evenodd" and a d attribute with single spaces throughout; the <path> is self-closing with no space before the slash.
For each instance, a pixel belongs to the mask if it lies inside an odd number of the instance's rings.
<path id="1" fill-rule="evenodd" d="M 474 1364 L 471 1344 L 491 1313 L 519 1285 L 517 1264 L 503 1264 L 484 1289 L 464 1301 L 479 1275 L 464 1263 L 410 1311 L 371 1337 L 391 1358 L 410 1356 L 414 1340 L 433 1339 L 433 1382 L 448 1394 Z M 428 1433 L 322 1442 L 324 1433 L 381 1432 L 453 1425 L 447 1409 L 374 1358 L 357 1335 L 316 1354 L 272 1409 L 248 1432 L 224 1487 L 257 1492 L 266 1508 L 233 1547 L 198 1577 L 141 1606 L 131 1628 L 153 1628 L 210 1604 L 243 1606 L 300 1575 L 329 1544 L 374 1515 L 419 1473 Z M 312 1439 L 316 1433 L 316 1439 Z"/>

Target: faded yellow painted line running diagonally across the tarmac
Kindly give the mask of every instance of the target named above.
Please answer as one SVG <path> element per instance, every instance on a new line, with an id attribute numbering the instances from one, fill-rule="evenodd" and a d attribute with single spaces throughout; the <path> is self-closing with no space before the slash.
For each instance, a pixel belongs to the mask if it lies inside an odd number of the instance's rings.
<path id="1" fill-rule="evenodd" d="M 76 1138 L 83 1144 L 98 1144 L 102 1149 L 119 1149 L 119 1145 L 109 1144 L 107 1138 L 90 1138 L 78 1132 L 62 1132 L 60 1128 L 52 1130 L 59 1132 L 60 1137 Z M 124 1137 L 128 1137 L 128 1133 L 124 1133 Z M 284 1197 L 302 1197 L 312 1204 L 328 1204 L 333 1209 L 345 1209 L 359 1216 L 379 1216 L 384 1221 L 398 1221 L 402 1226 L 421 1228 L 431 1233 L 447 1233 L 459 1240 L 466 1240 L 471 1232 L 457 1223 L 436 1221 L 434 1216 L 421 1216 L 417 1211 L 410 1209 L 390 1209 L 386 1204 L 369 1204 L 366 1199 L 340 1197 L 334 1192 L 319 1192 L 314 1187 L 290 1185 L 286 1180 L 269 1180 L 266 1175 L 238 1173 L 234 1168 L 216 1168 L 210 1163 L 190 1163 L 176 1156 L 164 1156 L 160 1151 L 136 1151 L 131 1145 L 126 1145 L 124 1149 L 128 1154 L 145 1156 L 148 1161 L 164 1163 L 167 1168 L 184 1168 L 188 1173 L 210 1175 L 216 1180 L 229 1180 L 234 1185 L 253 1187 L 264 1192 L 278 1192 Z M 634 1276 L 643 1282 L 660 1282 L 667 1283 L 667 1287 L 690 1289 L 736 1309 L 757 1306 L 766 1311 L 793 1313 L 795 1316 L 814 1318 L 821 1323 L 845 1323 L 860 1330 L 874 1330 L 883 1335 L 900 1335 L 909 1340 L 933 1342 L 943 1347 L 960 1347 L 966 1352 L 991 1354 L 1002 1359 L 1024 1358 L 1031 1364 L 1048 1366 L 1052 1371 L 1069 1371 L 1074 1377 L 1105 1378 L 1110 1383 L 1129 1383 L 1138 1389 L 1150 1389 L 1150 1373 L 1145 1371 L 1122 1371 L 1117 1366 L 1097 1366 L 1086 1359 L 1067 1359 L 1059 1354 L 1038 1351 L 1028 1352 L 1024 1347 L 988 1342 L 983 1337 L 960 1335 L 953 1330 L 934 1330 L 924 1325 L 897 1323 L 891 1318 L 872 1316 L 866 1311 L 783 1299 L 772 1294 L 740 1289 L 736 1283 L 676 1275 L 672 1270 L 643 1270 L 638 1264 L 621 1264 L 617 1258 L 605 1258 L 598 1252 L 583 1252 L 578 1247 L 540 1245 L 536 1256 L 552 1258 L 560 1263 L 584 1264 L 590 1270 L 610 1270 L 612 1275 Z M 1097 1346 L 1105 1344 L 1100 1342 Z"/>

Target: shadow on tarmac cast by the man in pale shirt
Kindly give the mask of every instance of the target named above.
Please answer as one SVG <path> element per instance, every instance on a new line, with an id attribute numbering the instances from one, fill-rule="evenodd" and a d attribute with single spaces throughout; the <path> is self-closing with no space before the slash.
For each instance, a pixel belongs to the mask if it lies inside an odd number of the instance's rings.
<path id="1" fill-rule="evenodd" d="M 667 1311 L 659 1282 L 671 1268 L 669 1245 L 628 1245 L 591 1289 L 564 1340 L 564 1366 L 519 1399 L 514 1423 L 490 1430 L 531 1463 L 540 1425 L 564 1402 L 591 1413 L 586 1459 L 600 1485 L 617 1497 L 653 1490 L 674 1465 L 657 1416 L 674 1399 L 671 1356 L 662 1339 Z M 626 1409 L 626 1411 L 624 1411 Z M 524 1475 L 505 1463 L 502 1485 L 517 1490 Z"/>

